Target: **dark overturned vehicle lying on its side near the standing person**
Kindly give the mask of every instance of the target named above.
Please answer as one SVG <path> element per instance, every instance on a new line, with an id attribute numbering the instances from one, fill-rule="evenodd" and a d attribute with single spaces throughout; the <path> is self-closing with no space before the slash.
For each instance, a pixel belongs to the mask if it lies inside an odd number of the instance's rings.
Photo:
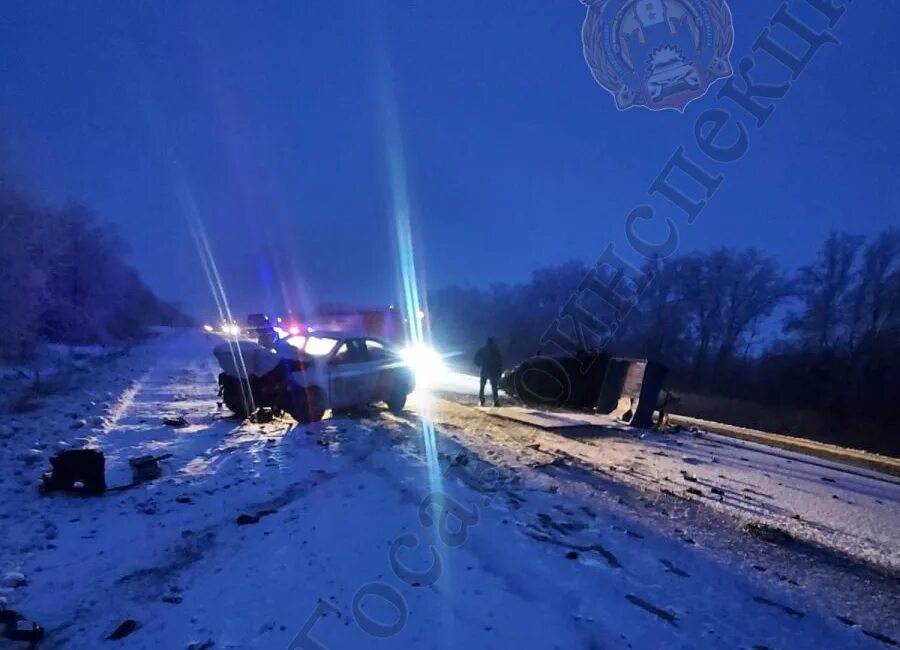
<path id="1" fill-rule="evenodd" d="M 653 424 L 666 368 L 604 352 L 537 355 L 503 373 L 500 385 L 526 404 L 592 410 L 637 427 Z"/>

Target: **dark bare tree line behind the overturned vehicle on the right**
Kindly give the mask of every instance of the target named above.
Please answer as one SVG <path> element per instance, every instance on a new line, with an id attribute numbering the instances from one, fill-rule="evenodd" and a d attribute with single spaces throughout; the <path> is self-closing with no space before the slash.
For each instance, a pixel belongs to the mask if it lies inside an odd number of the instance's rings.
<path id="1" fill-rule="evenodd" d="M 900 230 L 832 233 L 794 272 L 753 248 L 694 252 L 642 270 L 652 281 L 610 353 L 662 362 L 669 385 L 685 393 L 891 423 L 900 416 Z M 435 338 L 468 354 L 495 336 L 509 363 L 552 353 L 540 350 L 541 336 L 588 271 L 571 261 L 518 285 L 436 291 Z M 602 301 L 583 307 L 615 320 Z"/>

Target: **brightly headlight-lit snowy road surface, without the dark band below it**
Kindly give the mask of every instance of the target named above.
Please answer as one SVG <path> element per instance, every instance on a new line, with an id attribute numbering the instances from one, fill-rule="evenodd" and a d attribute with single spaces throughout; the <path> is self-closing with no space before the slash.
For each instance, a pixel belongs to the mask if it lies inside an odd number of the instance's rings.
<path id="1" fill-rule="evenodd" d="M 565 436 L 449 401 L 438 412 L 460 431 L 490 432 L 472 444 L 489 440 L 532 464 L 582 466 L 900 574 L 900 478 L 703 431 L 623 426 Z"/>

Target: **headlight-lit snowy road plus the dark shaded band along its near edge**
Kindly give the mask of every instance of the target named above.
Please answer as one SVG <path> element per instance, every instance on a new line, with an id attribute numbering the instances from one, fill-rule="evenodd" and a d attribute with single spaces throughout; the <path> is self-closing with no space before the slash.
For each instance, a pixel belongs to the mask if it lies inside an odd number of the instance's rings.
<path id="1" fill-rule="evenodd" d="M 454 402 L 440 400 L 435 423 L 473 451 L 897 638 L 894 477 L 704 433 L 570 438 Z"/>

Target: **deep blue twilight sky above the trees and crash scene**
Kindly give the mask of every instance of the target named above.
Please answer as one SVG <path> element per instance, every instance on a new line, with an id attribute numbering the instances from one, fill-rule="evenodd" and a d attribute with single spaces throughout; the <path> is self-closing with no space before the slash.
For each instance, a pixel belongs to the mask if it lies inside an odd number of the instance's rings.
<path id="1" fill-rule="evenodd" d="M 736 61 L 781 0 L 730 4 Z M 429 286 L 523 280 L 621 241 L 719 104 L 618 112 L 582 58 L 584 13 L 578 0 L 8 1 L 0 163 L 45 202 L 94 209 L 195 314 L 213 302 L 192 215 L 238 312 L 281 296 L 392 302 L 397 140 L 379 97 L 393 96 Z M 698 221 L 676 215 L 680 250 L 755 246 L 795 267 L 832 229 L 900 225 L 898 19 L 898 2 L 851 5 L 840 46 L 752 130 Z"/>

